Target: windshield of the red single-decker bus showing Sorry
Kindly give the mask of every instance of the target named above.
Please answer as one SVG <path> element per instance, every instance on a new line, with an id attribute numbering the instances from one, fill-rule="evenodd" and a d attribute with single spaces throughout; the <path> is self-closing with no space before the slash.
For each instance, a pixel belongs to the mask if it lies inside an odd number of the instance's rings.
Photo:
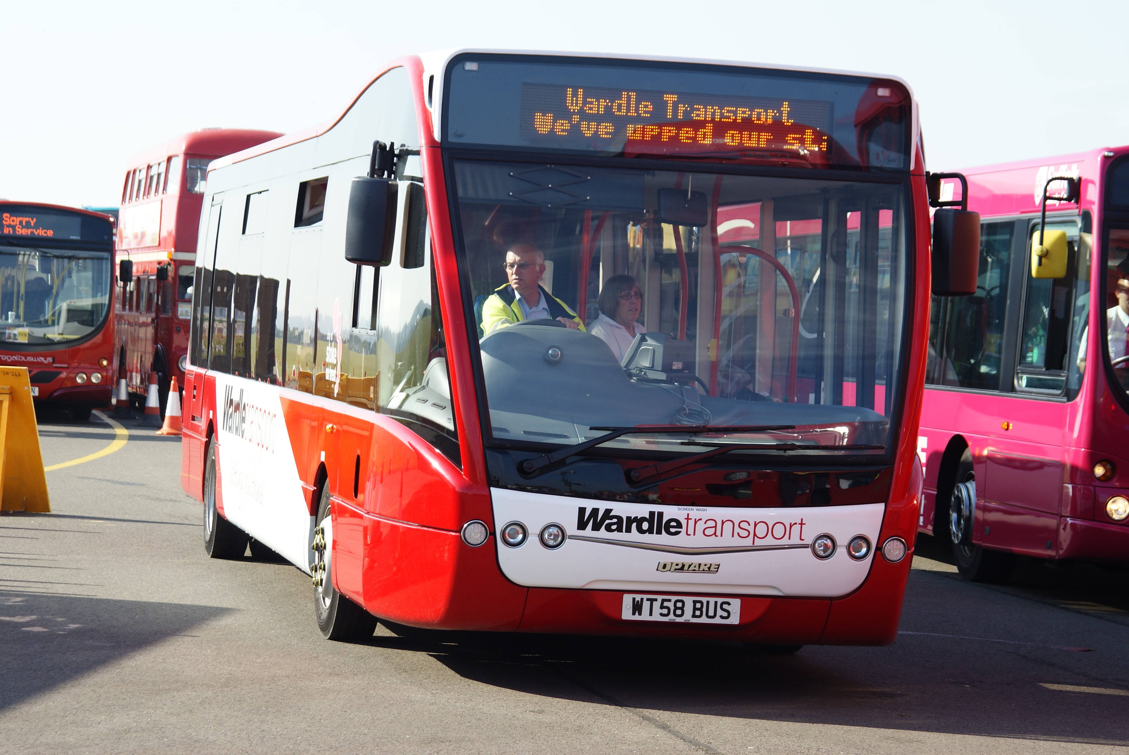
<path id="1" fill-rule="evenodd" d="M 5 348 L 59 344 L 89 335 L 110 301 L 108 252 L 0 246 Z"/>

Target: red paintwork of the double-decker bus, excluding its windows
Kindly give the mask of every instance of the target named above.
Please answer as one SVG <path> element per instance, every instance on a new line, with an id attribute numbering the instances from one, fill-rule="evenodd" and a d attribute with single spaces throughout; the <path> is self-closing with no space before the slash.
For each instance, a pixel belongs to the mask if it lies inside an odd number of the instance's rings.
<path id="1" fill-rule="evenodd" d="M 124 223 L 117 230 L 116 260 L 133 262 L 134 278 L 151 278 L 157 274 L 158 265 L 169 266 L 169 281 L 173 296 L 176 295 L 176 281 L 181 267 L 195 264 L 196 237 L 200 229 L 200 209 L 203 194 L 191 194 L 185 190 L 185 168 L 189 158 L 215 159 L 242 149 L 275 139 L 281 134 L 274 131 L 252 131 L 246 129 L 204 129 L 174 137 L 169 141 L 138 152 L 130 158 L 126 173 L 139 168 L 142 174 L 149 165 L 180 156 L 178 185 L 168 186 L 164 194 L 128 202 L 128 194 L 122 196 L 122 213 L 138 211 L 145 205 L 159 205 L 160 230 L 157 246 L 133 246 L 125 238 Z M 115 261 L 116 265 L 116 261 Z M 175 269 L 173 267 L 175 265 Z M 163 307 L 154 306 L 154 311 L 126 311 L 122 306 L 121 288 L 114 297 L 114 319 L 117 331 L 117 344 L 125 346 L 125 378 L 131 393 L 139 397 L 149 389 L 149 370 L 154 354 L 159 348 L 165 354 L 168 375 L 163 380 L 167 385 L 170 377 L 184 384 L 184 372 L 177 366 L 177 360 L 189 350 L 189 318 L 177 316 L 176 301 L 169 302 L 167 314 Z M 120 350 L 114 353 L 114 369 L 121 359 Z M 117 374 L 116 371 L 114 372 Z"/>

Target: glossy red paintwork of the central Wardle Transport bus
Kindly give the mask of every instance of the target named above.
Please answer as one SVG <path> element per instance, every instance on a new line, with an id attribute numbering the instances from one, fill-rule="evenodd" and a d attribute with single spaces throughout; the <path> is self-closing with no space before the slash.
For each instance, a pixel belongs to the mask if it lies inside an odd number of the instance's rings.
<path id="1" fill-rule="evenodd" d="M 358 415 L 329 400 L 279 388 L 295 464 L 310 513 L 322 480 L 333 516 L 334 587 L 367 611 L 390 621 L 426 627 L 527 632 L 574 632 L 706 639 L 767 643 L 883 644 L 894 640 L 911 559 L 898 564 L 874 559 L 870 576 L 852 595 L 838 600 L 742 596 L 742 624 L 732 626 L 640 625 L 622 622 L 622 592 L 527 589 L 507 580 L 497 562 L 495 541 L 463 544 L 458 532 L 471 519 L 495 527 L 471 361 L 469 328 L 455 257 L 452 218 L 439 144 L 423 105 L 422 63 L 394 61 L 409 71 L 420 123 L 428 217 L 444 334 L 452 404 L 460 437 L 456 466 L 419 436 L 390 416 Z M 387 70 L 387 69 L 386 69 Z M 382 71 L 383 73 L 383 71 Z M 330 125 L 307 130 L 227 158 L 236 163 L 316 137 Z M 924 157 L 918 149 L 911 177 L 917 249 L 912 300 L 929 296 L 929 216 Z M 921 386 L 925 378 L 928 307 L 912 308 L 907 368 L 908 397 L 896 438 L 891 498 L 878 544 L 899 536 L 913 543 L 919 513 L 921 468 L 914 455 Z M 216 381 L 190 367 L 185 376 L 182 485 L 202 498 L 203 453 L 213 434 Z M 323 460 L 324 454 L 324 460 Z M 364 471 L 353 493 L 357 457 Z"/>

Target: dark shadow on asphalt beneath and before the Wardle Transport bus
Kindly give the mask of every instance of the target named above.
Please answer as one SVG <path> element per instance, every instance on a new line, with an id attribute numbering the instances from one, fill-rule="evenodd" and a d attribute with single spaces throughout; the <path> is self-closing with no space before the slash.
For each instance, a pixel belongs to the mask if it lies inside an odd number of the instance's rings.
<path id="1" fill-rule="evenodd" d="M 469 681 L 636 709 L 674 728 L 692 714 L 1129 746 L 1123 696 L 1047 688 L 1039 681 L 1066 678 L 1062 668 L 1025 649 L 946 655 L 944 646 L 900 641 L 778 655 L 733 642 L 384 627 L 369 644 L 428 653 Z M 1027 661 L 1033 671 L 1008 668 Z"/>

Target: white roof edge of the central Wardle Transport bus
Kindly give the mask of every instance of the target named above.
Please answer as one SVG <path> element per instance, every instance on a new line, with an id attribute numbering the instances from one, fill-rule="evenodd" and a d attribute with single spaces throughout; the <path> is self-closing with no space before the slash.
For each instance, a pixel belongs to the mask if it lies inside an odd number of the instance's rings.
<path id="1" fill-rule="evenodd" d="M 436 87 L 434 89 L 434 96 L 431 98 L 431 104 L 427 107 L 431 116 L 431 129 L 429 130 L 434 135 L 435 143 L 439 142 L 439 109 L 443 102 L 443 74 L 447 69 L 447 63 L 455 55 L 462 55 L 466 53 L 478 53 L 483 55 L 552 55 L 557 58 L 588 58 L 588 59 L 606 59 L 606 60 L 638 60 L 638 61 L 650 61 L 650 62 L 666 62 L 666 63 L 697 63 L 702 65 L 729 65 L 736 68 L 755 68 L 755 69 L 769 69 L 779 71 L 797 71 L 804 73 L 830 73 L 834 76 L 857 76 L 863 78 L 878 78 L 878 79 L 890 79 L 896 81 L 905 87 L 905 90 L 913 97 L 913 89 L 904 79 L 896 76 L 886 76 L 881 73 L 864 73 L 858 71 L 841 71 L 835 69 L 825 68 L 805 68 L 802 65 L 781 65 L 772 63 L 752 63 L 747 61 L 729 61 L 729 60 L 711 60 L 706 58 L 676 58 L 669 55 L 641 55 L 641 54 L 624 54 L 624 53 L 596 53 L 596 52 L 560 52 L 560 51 L 549 51 L 549 50 L 496 50 L 489 47 L 460 47 L 455 50 L 440 50 L 423 53 L 421 55 L 406 55 L 404 58 L 397 58 L 390 61 L 385 67 L 383 67 L 376 76 L 374 76 L 364 87 L 361 87 L 357 95 L 353 96 L 349 104 L 334 117 L 324 121 L 317 125 L 296 131 L 290 134 L 279 135 L 279 138 L 266 141 L 253 147 L 248 147 L 239 152 L 234 152 L 227 155 L 218 160 L 215 160 L 211 166 L 209 166 L 209 172 L 221 168 L 235 163 L 242 163 L 243 160 L 251 159 L 259 155 L 265 155 L 266 152 L 272 152 L 277 149 L 282 149 L 283 147 L 289 147 L 290 144 L 297 144 L 298 142 L 306 141 L 308 139 L 315 139 L 321 137 L 334 125 L 336 125 L 341 118 L 352 108 L 352 106 L 360 99 L 360 96 L 373 86 L 373 84 L 379 79 L 382 76 L 387 73 L 394 68 L 409 68 L 417 69 L 421 74 L 420 80 L 426 81 L 428 77 L 435 76 Z M 918 124 L 917 124 L 917 99 L 913 98 L 913 140 L 917 140 Z M 911 150 L 911 156 L 914 155 Z M 911 157 L 912 161 L 912 157 Z"/>

